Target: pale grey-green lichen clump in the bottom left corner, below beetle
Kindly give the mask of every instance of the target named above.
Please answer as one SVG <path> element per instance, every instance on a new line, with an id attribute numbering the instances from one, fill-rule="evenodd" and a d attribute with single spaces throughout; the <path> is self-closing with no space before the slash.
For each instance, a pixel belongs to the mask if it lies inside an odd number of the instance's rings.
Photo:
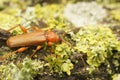
<path id="1" fill-rule="evenodd" d="M 34 80 L 33 78 L 41 73 L 44 63 L 25 58 L 22 63 L 15 65 L 0 65 L 0 80 Z"/>

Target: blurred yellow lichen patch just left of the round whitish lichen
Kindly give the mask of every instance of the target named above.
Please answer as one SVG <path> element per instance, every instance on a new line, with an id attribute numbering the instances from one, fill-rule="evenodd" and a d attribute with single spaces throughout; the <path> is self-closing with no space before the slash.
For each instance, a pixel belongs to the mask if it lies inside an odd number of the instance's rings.
<path id="1" fill-rule="evenodd" d="M 51 4 L 46 6 L 35 6 L 35 14 L 37 18 L 50 18 L 59 16 L 63 11 L 63 5 Z"/>

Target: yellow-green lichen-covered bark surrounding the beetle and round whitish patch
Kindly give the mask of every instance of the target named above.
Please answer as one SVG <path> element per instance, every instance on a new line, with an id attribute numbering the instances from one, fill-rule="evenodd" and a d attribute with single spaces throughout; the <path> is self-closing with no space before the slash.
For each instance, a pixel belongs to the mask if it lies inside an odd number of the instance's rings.
<path id="1" fill-rule="evenodd" d="M 91 18 L 97 17 L 100 22 L 77 27 L 64 15 L 66 5 L 75 2 L 77 0 L 1 0 L 0 80 L 119 80 L 120 7 L 115 5 L 119 2 L 96 0 L 96 6 L 106 10 L 106 17 L 100 19 L 94 9 L 97 16 Z M 75 16 L 79 11 L 72 14 Z M 86 16 L 81 18 L 86 20 Z M 7 31 L 18 24 L 30 33 L 32 26 L 54 30 L 61 41 L 52 46 L 43 43 L 32 59 L 29 56 L 34 53 L 35 45 L 15 54 L 18 48 L 9 48 L 5 42 L 10 36 L 24 34 L 19 27 Z"/>

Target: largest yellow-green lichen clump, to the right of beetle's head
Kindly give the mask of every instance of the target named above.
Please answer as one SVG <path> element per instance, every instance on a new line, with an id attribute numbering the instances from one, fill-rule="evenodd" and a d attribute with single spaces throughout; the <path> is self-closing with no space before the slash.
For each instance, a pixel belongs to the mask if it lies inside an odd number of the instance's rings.
<path id="1" fill-rule="evenodd" d="M 108 27 L 83 27 L 72 35 L 72 39 L 76 42 L 74 48 L 87 55 L 87 63 L 92 68 L 104 63 L 113 55 L 113 50 L 120 51 L 120 42 Z"/>

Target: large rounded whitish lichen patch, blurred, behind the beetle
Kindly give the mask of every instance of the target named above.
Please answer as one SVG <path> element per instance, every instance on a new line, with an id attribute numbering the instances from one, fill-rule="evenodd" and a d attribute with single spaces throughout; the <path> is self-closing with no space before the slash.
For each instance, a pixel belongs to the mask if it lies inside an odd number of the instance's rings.
<path id="1" fill-rule="evenodd" d="M 78 2 L 67 4 L 64 9 L 64 16 L 75 27 L 82 27 L 100 23 L 107 17 L 107 12 L 96 2 Z"/>

